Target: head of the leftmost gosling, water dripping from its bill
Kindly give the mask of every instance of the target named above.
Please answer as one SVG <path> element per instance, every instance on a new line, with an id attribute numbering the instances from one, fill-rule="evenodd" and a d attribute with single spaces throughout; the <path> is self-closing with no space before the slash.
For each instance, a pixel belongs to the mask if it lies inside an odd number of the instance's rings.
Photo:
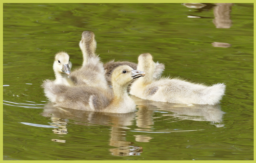
<path id="1" fill-rule="evenodd" d="M 70 74 L 70 69 L 72 67 L 72 63 L 69 60 L 69 55 L 65 52 L 59 52 L 55 55 L 55 60 L 53 63 L 53 70 L 55 74 L 66 73 Z"/>

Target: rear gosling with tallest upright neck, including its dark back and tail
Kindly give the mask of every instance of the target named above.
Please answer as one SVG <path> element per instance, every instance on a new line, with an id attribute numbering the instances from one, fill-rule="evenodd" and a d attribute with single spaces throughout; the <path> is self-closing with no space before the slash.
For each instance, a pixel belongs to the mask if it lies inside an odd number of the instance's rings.
<path id="1" fill-rule="evenodd" d="M 100 61 L 96 58 L 96 45 L 97 42 L 95 40 L 95 34 L 92 31 L 83 31 L 81 41 L 79 42 L 79 47 L 83 54 L 83 64 L 80 68 L 72 71 L 70 75 L 72 80 L 75 82 L 76 85 L 92 85 L 92 86 L 99 86 L 106 88 L 107 85 L 111 85 L 111 75 L 118 66 L 121 65 L 128 65 L 132 69 L 137 68 L 136 63 L 127 62 L 127 61 L 117 61 L 111 60 L 103 65 L 98 64 Z M 160 78 L 162 72 L 164 71 L 164 64 L 156 62 L 156 69 L 154 72 L 154 78 Z M 93 73 L 92 71 L 96 72 Z M 105 72 L 105 78 L 107 83 L 101 82 L 104 79 L 104 76 L 100 74 L 102 71 Z M 88 77 L 90 76 L 90 77 Z"/>

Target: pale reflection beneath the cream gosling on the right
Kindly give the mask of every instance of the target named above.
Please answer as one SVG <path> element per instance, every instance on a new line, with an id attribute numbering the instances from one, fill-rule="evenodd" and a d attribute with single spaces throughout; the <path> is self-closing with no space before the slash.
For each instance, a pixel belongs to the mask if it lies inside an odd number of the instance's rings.
<path id="1" fill-rule="evenodd" d="M 146 131 L 145 128 L 151 128 L 150 125 L 153 124 L 152 114 L 157 110 L 156 108 L 158 108 L 159 111 L 170 112 L 161 114 L 162 116 L 172 116 L 179 120 L 208 121 L 211 125 L 216 127 L 224 127 L 222 120 L 224 112 L 221 110 L 220 105 L 173 104 L 143 100 L 135 96 L 132 96 L 132 98 L 138 105 L 139 112 L 143 110 L 142 114 L 137 113 L 137 126 L 143 127 L 140 131 Z M 147 129 L 147 131 L 151 130 Z"/>

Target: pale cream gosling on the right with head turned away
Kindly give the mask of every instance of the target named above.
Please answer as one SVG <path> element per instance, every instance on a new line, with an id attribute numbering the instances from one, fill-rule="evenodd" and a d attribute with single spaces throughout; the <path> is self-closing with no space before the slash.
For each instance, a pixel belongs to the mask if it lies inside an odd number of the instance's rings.
<path id="1" fill-rule="evenodd" d="M 155 64 L 150 53 L 140 54 L 138 61 L 137 69 L 147 74 L 132 83 L 130 94 L 142 99 L 169 103 L 215 105 L 224 95 L 226 86 L 223 83 L 213 84 L 209 87 L 168 77 L 154 80 Z"/>

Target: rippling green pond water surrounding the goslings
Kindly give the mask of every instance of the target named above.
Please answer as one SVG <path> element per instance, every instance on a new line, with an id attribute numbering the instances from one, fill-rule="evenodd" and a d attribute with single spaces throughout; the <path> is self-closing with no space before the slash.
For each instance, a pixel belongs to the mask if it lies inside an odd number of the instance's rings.
<path id="1" fill-rule="evenodd" d="M 206 5 L 5 3 L 3 159 L 253 160 L 253 4 Z M 216 28 L 218 14 L 228 28 Z M 225 83 L 225 96 L 216 106 L 133 97 L 129 114 L 53 108 L 40 85 L 58 51 L 81 65 L 83 31 L 103 62 L 149 52 L 163 76 Z"/>

